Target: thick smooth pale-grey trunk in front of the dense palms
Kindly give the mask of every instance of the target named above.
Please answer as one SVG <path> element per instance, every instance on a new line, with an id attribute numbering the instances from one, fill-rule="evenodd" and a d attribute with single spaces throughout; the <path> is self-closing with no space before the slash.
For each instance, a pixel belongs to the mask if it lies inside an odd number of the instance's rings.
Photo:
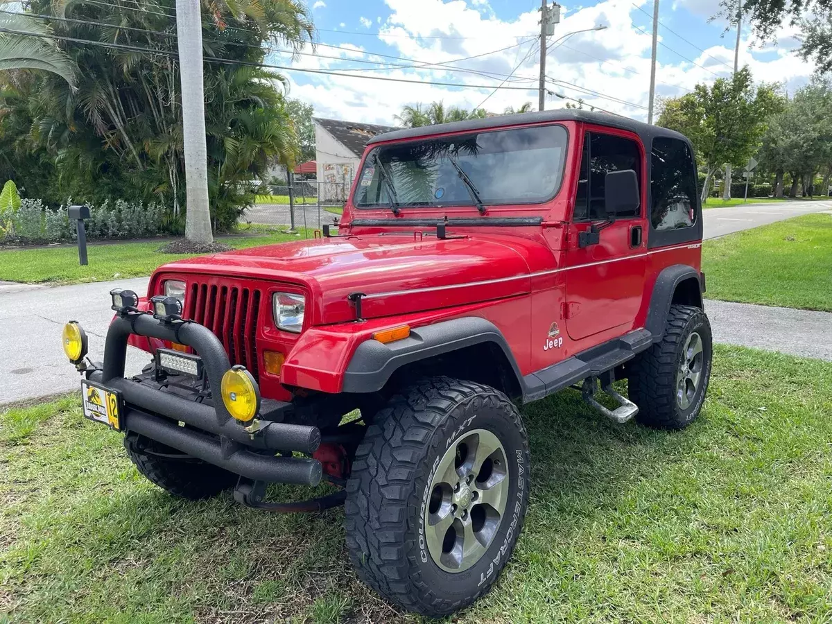
<path id="1" fill-rule="evenodd" d="M 205 84 L 202 77 L 200 0 L 176 0 L 176 36 L 182 91 L 182 134 L 185 148 L 187 213 L 185 238 L 211 243 L 208 208 Z"/>

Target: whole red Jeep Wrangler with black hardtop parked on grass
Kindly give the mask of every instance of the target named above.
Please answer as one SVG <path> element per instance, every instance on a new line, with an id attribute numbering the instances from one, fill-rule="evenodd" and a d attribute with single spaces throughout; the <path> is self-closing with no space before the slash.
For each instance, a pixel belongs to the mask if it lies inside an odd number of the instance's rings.
<path id="1" fill-rule="evenodd" d="M 487 592 L 517 542 L 518 405 L 575 387 L 618 423 L 699 414 L 711 329 L 684 136 L 563 110 L 395 131 L 369 141 L 336 225 L 164 265 L 148 299 L 112 291 L 102 364 L 67 324 L 85 415 L 153 483 L 345 502 L 359 576 L 435 616 Z M 153 356 L 132 379 L 127 344 Z M 321 481 L 340 489 L 265 496 Z"/>

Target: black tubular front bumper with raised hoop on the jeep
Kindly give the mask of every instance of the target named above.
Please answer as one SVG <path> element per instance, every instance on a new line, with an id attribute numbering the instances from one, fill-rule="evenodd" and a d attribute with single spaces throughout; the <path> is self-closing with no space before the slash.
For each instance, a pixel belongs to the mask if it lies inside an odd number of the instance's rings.
<path id="1" fill-rule="evenodd" d="M 317 427 L 259 418 L 253 426 L 246 427 L 230 416 L 219 396 L 208 396 L 206 400 L 205 393 L 194 392 L 191 399 L 161 389 L 147 379 L 125 379 L 130 334 L 190 346 L 201 357 L 207 388 L 214 392 L 231 368 L 220 339 L 201 324 L 163 322 L 143 313 L 116 316 L 106 335 L 102 370 L 93 371 L 89 379 L 121 394 L 122 430 L 151 438 L 245 478 L 301 485 L 320 482 L 322 467 L 318 460 L 275 456 L 278 451 L 314 453 L 320 444 Z"/>

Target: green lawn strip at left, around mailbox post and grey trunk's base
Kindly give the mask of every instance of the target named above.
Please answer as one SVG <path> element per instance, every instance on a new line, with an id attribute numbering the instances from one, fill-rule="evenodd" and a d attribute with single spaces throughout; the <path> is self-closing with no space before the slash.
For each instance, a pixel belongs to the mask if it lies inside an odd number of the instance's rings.
<path id="1" fill-rule="evenodd" d="M 298 240 L 304 235 L 283 234 L 285 226 L 255 225 L 243 234 L 218 239 L 236 249 Z M 115 280 L 125 277 L 150 275 L 157 266 L 172 260 L 187 258 L 189 254 L 162 254 L 158 250 L 166 240 L 141 243 L 112 243 L 88 245 L 89 264 L 78 264 L 78 250 L 72 245 L 38 247 L 34 249 L 0 250 L 0 280 L 13 282 L 77 284 L 79 282 Z"/>

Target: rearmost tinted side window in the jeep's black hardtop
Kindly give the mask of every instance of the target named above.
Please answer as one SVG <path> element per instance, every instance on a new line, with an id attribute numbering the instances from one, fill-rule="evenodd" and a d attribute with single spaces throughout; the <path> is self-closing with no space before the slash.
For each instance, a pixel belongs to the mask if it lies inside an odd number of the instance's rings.
<path id="1" fill-rule="evenodd" d="M 696 220 L 696 166 L 685 141 L 656 138 L 651 150 L 650 221 L 655 230 Z"/>

